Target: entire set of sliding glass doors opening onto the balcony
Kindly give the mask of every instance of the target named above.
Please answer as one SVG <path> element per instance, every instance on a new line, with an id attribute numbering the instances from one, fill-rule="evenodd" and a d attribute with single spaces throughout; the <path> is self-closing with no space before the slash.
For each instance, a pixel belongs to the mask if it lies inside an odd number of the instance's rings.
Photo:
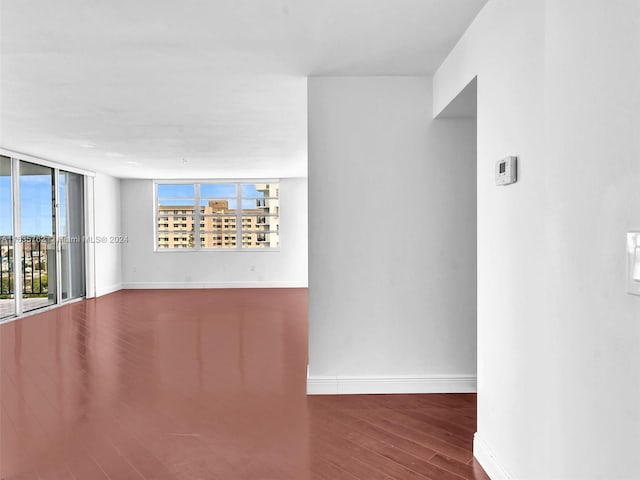
<path id="1" fill-rule="evenodd" d="M 0 321 L 86 295 L 85 176 L 0 155 Z"/>

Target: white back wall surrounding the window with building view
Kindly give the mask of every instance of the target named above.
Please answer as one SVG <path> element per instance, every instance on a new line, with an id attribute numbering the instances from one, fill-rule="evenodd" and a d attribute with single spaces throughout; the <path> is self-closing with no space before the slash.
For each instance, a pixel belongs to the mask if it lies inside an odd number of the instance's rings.
<path id="1" fill-rule="evenodd" d="M 151 180 L 122 180 L 125 288 L 307 286 L 307 179 L 280 181 L 279 251 L 154 252 Z"/>

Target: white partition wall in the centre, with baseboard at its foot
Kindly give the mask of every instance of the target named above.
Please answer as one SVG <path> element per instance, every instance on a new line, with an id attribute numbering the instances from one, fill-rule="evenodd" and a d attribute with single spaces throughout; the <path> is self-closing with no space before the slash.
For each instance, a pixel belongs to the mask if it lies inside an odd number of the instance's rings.
<path id="1" fill-rule="evenodd" d="M 309 79 L 310 393 L 475 389 L 475 121 L 431 95 Z"/>

